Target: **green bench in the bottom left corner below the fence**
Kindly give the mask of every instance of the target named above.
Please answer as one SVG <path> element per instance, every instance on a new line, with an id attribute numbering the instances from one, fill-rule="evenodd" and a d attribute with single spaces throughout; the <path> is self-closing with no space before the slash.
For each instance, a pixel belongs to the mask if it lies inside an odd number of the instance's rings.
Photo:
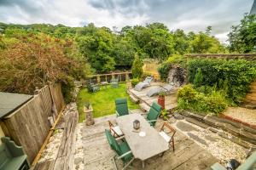
<path id="1" fill-rule="evenodd" d="M 27 170 L 30 168 L 26 154 L 21 146 L 17 146 L 9 137 L 1 138 L 0 170 Z"/>

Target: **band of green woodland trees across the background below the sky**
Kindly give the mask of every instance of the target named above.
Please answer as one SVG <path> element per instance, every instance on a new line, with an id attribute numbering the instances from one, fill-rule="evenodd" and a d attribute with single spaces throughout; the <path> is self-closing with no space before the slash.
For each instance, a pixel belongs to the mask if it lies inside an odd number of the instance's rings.
<path id="1" fill-rule="evenodd" d="M 43 32 L 60 40 L 72 40 L 78 44 L 79 54 L 82 54 L 97 73 L 130 70 L 136 53 L 140 53 L 141 59 L 151 58 L 160 61 L 166 60 L 173 54 L 224 53 L 224 46 L 210 35 L 209 28 L 205 32 L 185 33 L 179 29 L 169 31 L 167 26 L 161 23 L 125 26 L 121 31 L 111 31 L 107 27 L 96 27 L 93 24 L 68 27 L 0 23 L 0 32 L 5 37 L 25 35 L 27 32 Z M 2 46 L 0 42 L 0 48 Z"/>

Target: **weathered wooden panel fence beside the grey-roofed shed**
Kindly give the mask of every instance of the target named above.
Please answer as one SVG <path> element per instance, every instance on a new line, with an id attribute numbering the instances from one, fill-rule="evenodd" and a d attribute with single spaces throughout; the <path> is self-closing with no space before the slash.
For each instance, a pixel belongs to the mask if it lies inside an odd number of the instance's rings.
<path id="1" fill-rule="evenodd" d="M 1 127 L 5 136 L 22 145 L 28 161 L 32 162 L 49 133 L 49 116 L 55 121 L 55 116 L 60 113 L 63 106 L 61 85 L 45 86 L 25 105 L 4 117 L 0 122 Z"/>

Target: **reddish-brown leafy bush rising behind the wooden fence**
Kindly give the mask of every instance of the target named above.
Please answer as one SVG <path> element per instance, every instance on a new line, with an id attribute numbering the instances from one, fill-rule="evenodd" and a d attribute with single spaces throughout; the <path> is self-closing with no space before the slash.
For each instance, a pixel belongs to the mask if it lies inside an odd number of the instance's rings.
<path id="1" fill-rule="evenodd" d="M 36 87 L 61 82 L 70 101 L 73 78 L 84 77 L 87 67 L 72 41 L 8 29 L 0 42 L 1 91 L 33 94 Z"/>

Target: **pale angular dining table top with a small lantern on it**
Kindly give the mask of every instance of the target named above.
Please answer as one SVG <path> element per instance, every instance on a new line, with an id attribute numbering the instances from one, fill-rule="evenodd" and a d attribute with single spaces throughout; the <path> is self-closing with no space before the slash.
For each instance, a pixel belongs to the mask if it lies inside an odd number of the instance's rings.
<path id="1" fill-rule="evenodd" d="M 135 132 L 133 122 L 140 122 L 140 131 L 145 132 L 146 136 L 141 137 Z M 142 161 L 149 157 L 156 156 L 166 150 L 169 150 L 169 144 L 163 139 L 154 127 L 151 127 L 146 119 L 140 114 L 134 113 L 126 116 L 119 116 L 117 123 L 125 134 L 125 140 L 131 148 L 131 152 L 135 158 Z"/>

